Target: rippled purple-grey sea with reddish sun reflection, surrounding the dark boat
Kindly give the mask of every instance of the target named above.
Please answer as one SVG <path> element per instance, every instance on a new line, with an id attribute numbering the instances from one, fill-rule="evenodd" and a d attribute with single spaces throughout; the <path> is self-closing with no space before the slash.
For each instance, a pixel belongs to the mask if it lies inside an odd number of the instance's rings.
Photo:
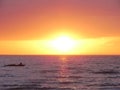
<path id="1" fill-rule="evenodd" d="M 120 56 L 0 56 L 0 90 L 120 90 Z"/>

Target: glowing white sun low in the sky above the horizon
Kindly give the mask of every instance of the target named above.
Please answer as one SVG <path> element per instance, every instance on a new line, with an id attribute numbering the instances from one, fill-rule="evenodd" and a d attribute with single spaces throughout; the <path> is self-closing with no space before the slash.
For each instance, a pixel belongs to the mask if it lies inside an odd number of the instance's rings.
<path id="1" fill-rule="evenodd" d="M 68 52 L 75 47 L 75 40 L 68 36 L 60 36 L 52 41 L 52 46 L 61 52 Z"/>

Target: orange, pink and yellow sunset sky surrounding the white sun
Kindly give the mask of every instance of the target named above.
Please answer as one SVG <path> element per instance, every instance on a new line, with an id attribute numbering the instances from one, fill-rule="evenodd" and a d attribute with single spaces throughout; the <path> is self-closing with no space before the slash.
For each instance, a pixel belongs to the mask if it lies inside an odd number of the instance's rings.
<path id="1" fill-rule="evenodd" d="M 120 0 L 0 0 L 0 54 L 120 55 Z"/>

